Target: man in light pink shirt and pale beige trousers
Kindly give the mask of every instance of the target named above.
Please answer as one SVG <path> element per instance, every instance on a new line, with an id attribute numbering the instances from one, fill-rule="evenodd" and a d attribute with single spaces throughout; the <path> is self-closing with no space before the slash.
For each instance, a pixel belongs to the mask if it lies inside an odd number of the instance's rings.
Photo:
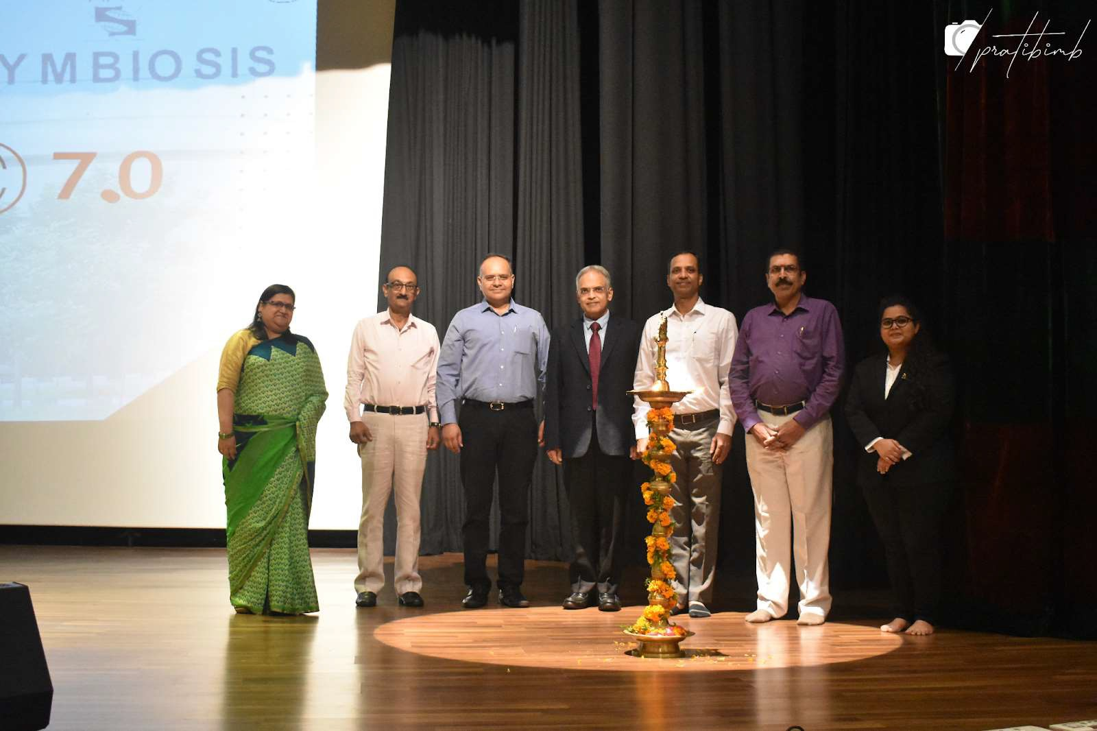
<path id="1" fill-rule="evenodd" d="M 385 585 L 382 537 L 385 505 L 396 498 L 393 584 L 399 605 L 421 607 L 419 494 L 427 450 L 440 440 L 434 378 L 438 331 L 411 314 L 419 294 L 414 271 L 396 267 L 381 286 L 388 308 L 354 328 L 347 360 L 350 440 L 362 458 L 362 517 L 358 526 L 359 607 L 377 605 Z"/>

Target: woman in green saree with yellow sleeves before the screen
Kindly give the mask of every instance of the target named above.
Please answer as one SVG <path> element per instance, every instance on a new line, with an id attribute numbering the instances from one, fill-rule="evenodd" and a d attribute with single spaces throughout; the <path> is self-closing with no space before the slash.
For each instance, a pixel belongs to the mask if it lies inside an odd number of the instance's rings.
<path id="1" fill-rule="evenodd" d="M 316 424 L 328 393 L 313 344 L 290 333 L 296 297 L 268 286 L 220 356 L 217 451 L 228 509 L 229 600 L 240 614 L 319 611 L 308 556 Z"/>

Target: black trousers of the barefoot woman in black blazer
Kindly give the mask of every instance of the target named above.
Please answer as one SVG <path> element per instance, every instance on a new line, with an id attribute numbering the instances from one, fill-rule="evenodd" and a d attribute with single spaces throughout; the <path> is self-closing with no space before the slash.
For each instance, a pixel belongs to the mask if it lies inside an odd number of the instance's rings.
<path id="1" fill-rule="evenodd" d="M 952 482 L 895 486 L 887 476 L 863 487 L 895 593 L 895 616 L 937 622 L 941 599 L 941 526 Z"/>

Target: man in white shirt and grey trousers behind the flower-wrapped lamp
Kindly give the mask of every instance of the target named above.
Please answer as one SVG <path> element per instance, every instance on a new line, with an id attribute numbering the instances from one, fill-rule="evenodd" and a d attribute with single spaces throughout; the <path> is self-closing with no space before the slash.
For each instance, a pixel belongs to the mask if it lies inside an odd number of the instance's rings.
<path id="1" fill-rule="evenodd" d="M 720 526 L 720 496 L 723 463 L 732 448 L 735 409 L 727 385 L 727 372 L 735 351 L 738 328 L 735 315 L 705 304 L 700 296 L 698 258 L 682 251 L 670 260 L 667 286 L 675 295 L 669 310 L 652 315 L 636 359 L 634 387 L 645 390 L 655 381 L 655 337 L 660 319 L 667 318 L 667 381 L 675 391 L 691 391 L 674 405 L 675 428 L 670 440 L 677 449 L 670 459 L 677 482 L 671 490 L 675 507 L 670 518 L 677 524 L 670 537 L 677 576 L 671 585 L 678 593 L 677 615 L 708 617 L 716 570 L 716 536 Z M 636 451 L 647 448 L 649 406 L 636 400 L 633 423 Z"/>

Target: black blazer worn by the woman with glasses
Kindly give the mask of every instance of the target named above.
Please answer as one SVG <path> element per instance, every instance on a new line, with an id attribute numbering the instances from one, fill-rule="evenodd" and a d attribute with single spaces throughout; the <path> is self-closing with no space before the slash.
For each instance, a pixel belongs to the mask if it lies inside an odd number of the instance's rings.
<path id="1" fill-rule="evenodd" d="M 925 373 L 917 376 L 926 384 L 926 404 L 921 409 L 911 405 L 914 375 L 900 369 L 891 393 L 884 398 L 887 355 L 866 358 L 857 364 L 846 397 L 846 418 L 857 437 L 859 457 L 857 484 L 871 487 L 884 479 L 893 485 L 924 485 L 954 479 L 952 419 L 954 389 L 948 358 L 938 355 Z M 875 439 L 894 439 L 911 450 L 913 457 L 892 465 L 886 475 L 877 472 L 875 452 L 864 446 Z"/>

